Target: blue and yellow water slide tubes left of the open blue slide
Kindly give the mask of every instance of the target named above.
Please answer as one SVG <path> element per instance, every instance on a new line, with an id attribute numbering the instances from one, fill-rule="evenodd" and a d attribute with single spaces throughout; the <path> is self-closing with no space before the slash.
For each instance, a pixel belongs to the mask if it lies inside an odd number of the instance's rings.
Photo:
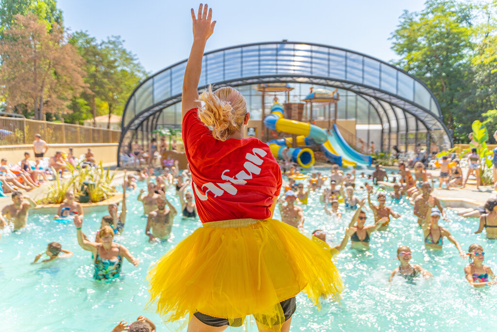
<path id="1" fill-rule="evenodd" d="M 288 132 L 291 134 L 299 135 L 297 136 L 297 144 L 298 145 L 311 145 L 310 140 L 313 140 L 315 143 L 321 145 L 321 150 L 325 153 L 326 157 L 331 160 L 331 162 L 338 164 L 339 166 L 355 166 L 355 163 L 349 162 L 346 160 L 342 160 L 342 157 L 337 155 L 336 151 L 331 146 L 328 141 L 327 133 L 324 129 L 310 123 L 295 121 L 285 119 L 283 115 L 283 107 L 279 103 L 274 103 L 271 107 L 271 113 L 264 118 L 264 124 L 267 128 L 276 130 L 279 132 Z M 281 158 L 282 151 L 285 147 L 290 147 L 292 145 L 292 141 L 290 138 L 282 138 L 282 139 L 273 139 L 269 141 L 271 148 L 271 152 L 274 157 Z M 278 146 L 278 147 L 277 147 Z M 312 153 L 311 149 L 301 149 L 304 151 L 308 151 Z M 299 155 L 299 152 L 292 151 L 292 158 L 294 162 L 299 163 L 300 165 L 305 164 L 304 167 L 310 167 L 314 164 L 314 153 L 312 153 L 312 163 L 303 163 L 302 158 L 301 162 L 295 159 L 295 155 Z M 306 158 L 306 161 L 308 158 Z"/>

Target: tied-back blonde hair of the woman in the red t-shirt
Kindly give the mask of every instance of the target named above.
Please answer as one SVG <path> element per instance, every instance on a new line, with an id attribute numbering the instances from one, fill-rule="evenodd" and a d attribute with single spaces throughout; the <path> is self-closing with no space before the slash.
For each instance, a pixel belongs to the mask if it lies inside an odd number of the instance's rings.
<path id="1" fill-rule="evenodd" d="M 224 87 L 212 92 L 209 85 L 199 101 L 205 105 L 199 108 L 198 118 L 212 127 L 212 136 L 216 139 L 227 140 L 245 121 L 247 101 L 237 89 Z"/>

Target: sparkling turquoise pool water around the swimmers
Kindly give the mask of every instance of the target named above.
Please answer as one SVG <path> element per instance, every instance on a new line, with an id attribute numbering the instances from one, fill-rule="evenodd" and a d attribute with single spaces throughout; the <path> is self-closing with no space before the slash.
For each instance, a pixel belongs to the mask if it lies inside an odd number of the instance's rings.
<path id="1" fill-rule="evenodd" d="M 322 171 L 324 174 L 329 170 Z M 360 171 L 358 171 L 360 173 Z M 370 171 L 368 171 L 370 173 Z M 307 180 L 298 180 L 297 182 Z M 365 181 L 358 179 L 356 188 Z M 329 182 L 328 182 L 329 183 Z M 145 188 L 145 182 L 139 188 Z M 199 220 L 174 219 L 172 236 L 166 243 L 148 243 L 145 235 L 147 219 L 137 202 L 139 189 L 129 192 L 128 216 L 124 232 L 115 242 L 126 246 L 140 260 L 135 268 L 124 260 L 123 277 L 111 283 L 95 282 L 90 253 L 77 242 L 73 224 L 61 224 L 52 216 L 30 213 L 28 226 L 15 232 L 4 232 L 0 241 L 0 321 L 2 331 L 108 331 L 121 320 L 133 322 L 139 315 L 150 318 L 158 331 L 175 330 L 180 322 L 162 323 L 153 310 L 144 311 L 149 295 L 145 281 L 147 269 L 168 249 L 194 229 Z M 167 197 L 179 209 L 179 200 L 173 186 Z M 356 195 L 366 197 L 365 190 Z M 353 211 L 344 211 L 341 219 L 324 215 L 321 192 L 311 192 L 309 205 L 304 207 L 304 227 L 308 232 L 322 228 L 328 240 L 338 244 Z M 321 311 L 307 298 L 297 296 L 297 311 L 291 331 L 489 331 L 495 329 L 497 319 L 496 286 L 476 290 L 464 278 L 467 259 L 459 257 L 453 244 L 444 239 L 441 252 L 424 248 L 421 229 L 417 226 L 412 206 L 405 200 L 392 204 L 400 219 L 390 222 L 388 231 L 371 235 L 369 251 L 350 249 L 350 244 L 335 257 L 345 289 L 340 303 L 323 301 Z M 96 208 L 84 217 L 83 231 L 94 239 L 100 219 L 107 214 L 106 207 Z M 280 218 L 278 209 L 274 214 Z M 373 215 L 367 212 L 366 224 L 372 224 Z M 451 221 L 441 221 L 467 250 L 472 243 L 480 243 L 486 252 L 486 264 L 497 273 L 497 242 L 486 239 L 484 233 L 473 234 L 477 219 L 463 219 L 450 209 Z M 62 243 L 74 256 L 47 264 L 30 265 L 36 254 L 45 251 L 52 241 Z M 399 245 L 411 247 L 412 263 L 420 264 L 434 278 L 407 284 L 402 278 L 388 282 L 391 271 L 399 265 L 396 251 Z M 240 329 L 232 329 L 241 331 Z M 184 329 L 186 331 L 186 329 Z M 257 331 L 249 326 L 248 331 Z"/>

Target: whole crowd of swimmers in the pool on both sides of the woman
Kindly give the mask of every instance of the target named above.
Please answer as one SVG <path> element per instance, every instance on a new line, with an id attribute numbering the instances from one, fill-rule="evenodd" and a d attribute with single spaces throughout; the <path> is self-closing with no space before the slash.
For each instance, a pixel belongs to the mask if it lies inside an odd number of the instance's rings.
<path id="1" fill-rule="evenodd" d="M 471 156 L 469 157 L 471 158 Z M 439 187 L 442 183 L 446 188 L 454 188 L 464 184 L 462 181 L 462 171 L 458 161 L 454 161 L 451 174 L 459 176 L 458 178 L 446 179 L 444 167 L 448 167 L 448 162 L 444 161 L 440 165 Z M 468 251 L 463 251 L 461 245 L 451 232 L 438 224 L 440 219 L 447 219 L 445 211 L 440 202 L 431 195 L 433 182 L 430 182 L 430 174 L 424 169 L 420 162 L 414 164 L 414 170 L 409 170 L 404 163 L 399 164 L 399 169 L 392 172 L 389 176 L 387 171 L 381 165 L 375 165 L 372 175 L 366 176 L 365 173 L 356 174 L 355 170 L 343 172 L 337 165 L 331 168 L 329 177 L 322 176 L 320 172 L 313 172 L 311 176 L 300 173 L 297 166 L 290 161 L 280 160 L 279 162 L 282 174 L 285 180 L 284 191 L 278 200 L 278 208 L 281 214 L 281 220 L 302 232 L 304 229 L 305 214 L 303 206 L 309 204 L 310 193 L 315 191 L 319 193 L 320 204 L 323 205 L 323 211 L 326 215 L 337 216 L 341 218 L 340 206 L 345 210 L 355 210 L 348 227 L 344 232 L 343 238 L 338 245 L 330 245 L 333 255 L 343 250 L 347 243 L 357 250 L 368 250 L 369 243 L 374 238 L 373 233 L 376 231 L 388 231 L 388 224 L 391 219 L 401 218 L 401 215 L 395 211 L 395 206 L 403 197 L 408 197 L 413 204 L 413 214 L 418 218 L 417 222 L 423 232 L 424 245 L 430 250 L 439 250 L 443 247 L 443 240 L 446 238 L 454 244 L 462 257 L 468 257 L 470 263 L 465 267 L 465 277 L 474 287 L 480 288 L 497 284 L 494 281 L 494 273 L 488 265 L 484 265 L 484 249 L 480 244 L 472 244 Z M 164 165 L 163 165 L 164 166 Z M 155 175 L 155 174 L 159 175 Z M 364 186 L 356 188 L 356 177 L 368 179 L 371 184 L 365 183 Z M 128 260 L 134 266 L 138 266 L 139 261 L 125 246 L 113 241 L 116 234 L 124 230 L 126 223 L 126 195 L 129 191 L 137 190 L 137 183 L 145 181 L 147 189 L 140 189 L 137 200 L 143 204 L 144 215 L 147 216 L 147 224 L 144 235 L 148 237 L 149 242 L 166 241 L 169 238 L 173 219 L 179 213 L 184 218 L 196 218 L 197 211 L 193 201 L 193 187 L 191 174 L 189 170 L 180 171 L 178 162 L 173 166 L 159 168 L 143 168 L 135 174 L 124 175 L 123 181 L 123 201 L 121 211 L 119 212 L 116 204 L 108 206 L 109 214 L 101 219 L 100 228 L 97 230 L 94 240 L 88 239 L 83 233 L 83 208 L 75 200 L 73 192 L 66 193 L 66 200 L 60 205 L 54 218 L 71 218 L 74 221 L 77 230 L 79 245 L 87 251 L 90 251 L 94 263 L 95 280 L 113 280 L 118 279 L 121 275 L 123 258 Z M 387 194 L 385 190 L 378 190 L 379 186 L 391 186 L 393 191 Z M 179 198 L 180 206 L 175 207 L 171 203 L 171 198 L 166 195 L 169 186 L 174 187 L 176 195 Z M 497 186 L 497 185 L 496 185 Z M 367 205 L 369 206 L 374 223 L 366 225 L 368 218 L 366 209 L 366 199 L 359 199 L 355 193 L 362 191 L 367 195 Z M 313 196 L 316 197 L 316 196 Z M 376 197 L 378 203 L 374 203 L 372 197 Z M 36 206 L 36 203 L 27 195 L 14 190 L 11 195 L 12 204 L 6 206 L 0 214 L 0 227 L 11 224 L 13 230 L 20 229 L 27 224 L 29 209 Z M 387 204 L 387 198 L 392 202 Z M 497 238 L 497 191 L 494 191 L 490 199 L 484 206 L 477 209 L 468 209 L 460 212 L 463 217 L 478 217 L 480 223 L 475 233 L 486 231 L 488 238 Z M 322 229 L 316 229 L 312 232 L 315 236 L 325 243 L 327 242 L 326 232 Z M 146 239 L 144 236 L 144 239 Z M 62 248 L 61 243 L 51 242 L 45 251 L 36 255 L 33 263 L 46 263 L 60 258 L 68 258 L 73 252 Z M 389 281 L 395 277 L 402 277 L 409 282 L 414 282 L 416 278 L 431 278 L 432 274 L 418 264 L 412 264 L 412 252 L 409 246 L 401 245 L 397 250 L 397 259 L 399 266 L 391 273 Z M 146 326 L 153 331 L 153 323 L 150 320 L 140 317 L 135 326 Z M 133 324 L 129 327 L 133 327 Z M 127 325 L 121 322 L 115 331 L 124 331 Z M 130 331 L 140 331 L 132 330 Z"/>

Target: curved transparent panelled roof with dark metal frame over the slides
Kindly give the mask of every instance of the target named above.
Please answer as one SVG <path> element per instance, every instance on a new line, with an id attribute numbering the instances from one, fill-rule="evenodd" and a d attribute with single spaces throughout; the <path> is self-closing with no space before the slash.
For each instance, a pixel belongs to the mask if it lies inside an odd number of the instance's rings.
<path id="1" fill-rule="evenodd" d="M 186 61 L 150 76 L 133 91 L 123 112 L 118 163 L 124 147 L 129 147 L 139 136 L 142 140 L 150 137 L 158 126 L 161 112 L 181 102 Z M 426 85 L 369 55 L 329 45 L 283 40 L 207 52 L 202 69 L 199 90 L 209 84 L 220 88 L 278 82 L 350 91 L 367 101 L 368 119 L 371 107 L 378 115 L 382 125 L 382 149 L 385 148 L 386 132 L 388 150 L 392 135 L 399 146 L 401 130 L 406 150 L 409 133 L 414 132 L 417 144 L 418 131 L 427 133 L 428 146 L 433 139 L 443 147 L 453 146 L 452 134 L 443 123 L 440 106 Z M 180 119 L 175 119 L 170 126 L 180 127 Z"/>

